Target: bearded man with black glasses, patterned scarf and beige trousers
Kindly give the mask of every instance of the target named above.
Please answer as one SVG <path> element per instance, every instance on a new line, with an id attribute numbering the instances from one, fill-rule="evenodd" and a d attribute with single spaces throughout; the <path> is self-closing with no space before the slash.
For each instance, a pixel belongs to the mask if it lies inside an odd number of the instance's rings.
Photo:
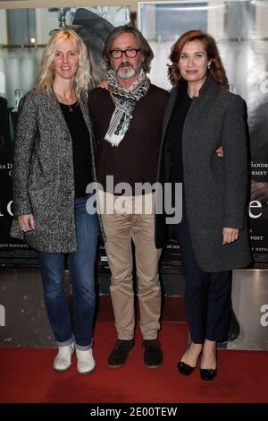
<path id="1" fill-rule="evenodd" d="M 155 248 L 155 192 L 163 113 L 168 92 L 147 78 L 154 54 L 134 27 L 121 26 L 106 39 L 103 51 L 108 90 L 96 88 L 88 104 L 99 155 L 97 180 L 105 228 L 105 249 L 118 340 L 109 367 L 124 365 L 134 348 L 135 310 L 131 240 L 138 275 L 140 330 L 144 363 L 163 363 L 157 339 L 161 289 Z M 147 183 L 146 191 L 137 186 Z M 113 188 L 114 186 L 114 188 Z"/>

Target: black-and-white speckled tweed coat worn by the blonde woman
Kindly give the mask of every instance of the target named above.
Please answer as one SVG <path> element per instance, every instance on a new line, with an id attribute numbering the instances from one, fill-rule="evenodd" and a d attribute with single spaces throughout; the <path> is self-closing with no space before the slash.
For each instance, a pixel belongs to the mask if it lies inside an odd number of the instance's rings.
<path id="1" fill-rule="evenodd" d="M 96 147 L 84 96 L 80 107 L 88 127 L 91 150 L 88 166 L 96 182 Z M 71 134 L 61 107 L 53 91 L 48 97 L 40 90 L 30 90 L 19 107 L 11 236 L 46 253 L 76 252 L 74 200 Z M 27 214 L 34 215 L 35 230 L 23 234 L 16 217 Z"/>

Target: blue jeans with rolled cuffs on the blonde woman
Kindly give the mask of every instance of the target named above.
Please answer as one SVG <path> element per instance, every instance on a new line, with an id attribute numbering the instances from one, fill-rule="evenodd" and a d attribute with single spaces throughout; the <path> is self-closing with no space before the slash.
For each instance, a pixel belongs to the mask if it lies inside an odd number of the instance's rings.
<path id="1" fill-rule="evenodd" d="M 97 216 L 86 210 L 88 196 L 75 200 L 75 223 L 78 252 L 69 253 L 71 295 L 74 312 L 74 339 L 76 348 L 92 346 L 95 316 L 95 259 L 97 245 Z M 38 252 L 42 273 L 46 311 L 59 347 L 73 341 L 71 314 L 65 295 L 64 253 Z"/>

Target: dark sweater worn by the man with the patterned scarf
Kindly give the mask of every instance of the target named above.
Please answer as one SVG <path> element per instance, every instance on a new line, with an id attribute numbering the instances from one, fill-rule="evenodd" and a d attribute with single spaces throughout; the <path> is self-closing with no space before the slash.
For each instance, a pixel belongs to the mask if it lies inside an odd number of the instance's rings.
<path id="1" fill-rule="evenodd" d="M 96 88 L 89 93 L 88 106 L 93 130 L 98 142 L 97 181 L 105 191 L 114 193 L 105 183 L 113 176 L 113 185 L 127 182 L 135 194 L 135 183 L 150 183 L 157 178 L 163 114 L 169 93 L 151 84 L 147 95 L 140 99 L 130 120 L 130 127 L 118 146 L 105 141 L 113 116 L 114 104 L 108 90 Z"/>

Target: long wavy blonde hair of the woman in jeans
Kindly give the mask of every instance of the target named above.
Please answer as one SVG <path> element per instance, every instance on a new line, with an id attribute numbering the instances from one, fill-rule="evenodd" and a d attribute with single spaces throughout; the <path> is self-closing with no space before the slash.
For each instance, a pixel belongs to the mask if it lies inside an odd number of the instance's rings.
<path id="1" fill-rule="evenodd" d="M 59 44 L 67 39 L 71 40 L 79 56 L 79 67 L 74 76 L 73 89 L 76 96 L 80 98 L 82 91 L 88 95 L 88 90 L 92 84 L 92 77 L 88 49 L 74 30 L 58 30 L 49 40 L 43 53 L 42 66 L 35 89 L 44 90 L 48 96 L 51 95 L 51 88 L 54 82 L 54 53 Z"/>

